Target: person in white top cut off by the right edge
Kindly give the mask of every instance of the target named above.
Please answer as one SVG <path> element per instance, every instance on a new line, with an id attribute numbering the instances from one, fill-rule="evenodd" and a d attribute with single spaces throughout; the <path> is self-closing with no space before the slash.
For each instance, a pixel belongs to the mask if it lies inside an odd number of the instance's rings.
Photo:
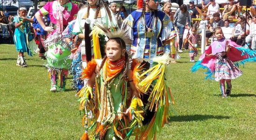
<path id="1" fill-rule="evenodd" d="M 256 50 L 256 15 L 253 17 L 253 22 L 249 28 L 250 34 L 245 38 L 245 42 L 251 44 L 251 49 Z"/>

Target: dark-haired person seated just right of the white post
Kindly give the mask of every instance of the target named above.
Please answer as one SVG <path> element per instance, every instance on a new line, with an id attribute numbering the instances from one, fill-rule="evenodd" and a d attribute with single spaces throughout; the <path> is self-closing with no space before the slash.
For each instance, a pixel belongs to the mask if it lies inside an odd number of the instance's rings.
<path id="1" fill-rule="evenodd" d="M 224 26 L 224 21 L 220 19 L 220 13 L 214 13 L 213 14 L 214 21 L 211 23 L 210 28 L 208 31 L 206 31 L 206 45 L 208 43 L 209 38 L 213 35 L 214 28 L 220 26 Z"/>

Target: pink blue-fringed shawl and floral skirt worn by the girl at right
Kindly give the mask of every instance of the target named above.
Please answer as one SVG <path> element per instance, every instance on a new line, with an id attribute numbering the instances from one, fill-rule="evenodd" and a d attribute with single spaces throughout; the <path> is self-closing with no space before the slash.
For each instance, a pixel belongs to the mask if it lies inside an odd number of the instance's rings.
<path id="1" fill-rule="evenodd" d="M 256 51 L 246 49 L 230 40 L 227 41 L 230 46 L 230 51 L 228 53 L 225 53 L 224 49 L 225 54 L 223 54 L 223 52 L 218 52 L 214 56 L 207 57 L 206 54 L 212 54 L 213 47 L 220 48 L 220 46 L 218 47 L 210 45 L 205 50 L 204 54 L 200 56 L 199 61 L 195 63 L 194 66 L 191 68 L 191 71 L 196 72 L 197 70 L 199 70 L 199 68 L 207 69 L 207 71 L 205 72 L 205 74 L 207 74 L 205 79 L 215 79 L 216 81 L 219 81 L 222 76 L 225 76 L 225 72 L 228 74 L 228 77 L 226 76 L 225 79 L 234 79 L 242 75 L 237 67 L 239 67 L 239 65 L 241 64 L 244 65 L 245 62 L 255 62 Z M 222 69 L 220 68 L 221 66 L 228 66 L 229 69 Z M 221 77 L 220 72 L 222 72 Z"/>

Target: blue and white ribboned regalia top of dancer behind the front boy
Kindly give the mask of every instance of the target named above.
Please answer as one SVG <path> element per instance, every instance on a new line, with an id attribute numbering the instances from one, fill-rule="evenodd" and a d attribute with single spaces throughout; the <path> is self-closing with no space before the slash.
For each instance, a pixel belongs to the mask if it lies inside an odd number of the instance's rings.
<path id="1" fill-rule="evenodd" d="M 139 9 L 129 14 L 124 23 L 128 24 L 128 34 L 132 39 L 132 45 L 127 47 L 132 58 L 152 59 L 164 53 L 170 54 L 176 32 L 164 12 L 142 14 L 142 9 Z M 178 56 L 176 58 L 178 59 Z"/>

